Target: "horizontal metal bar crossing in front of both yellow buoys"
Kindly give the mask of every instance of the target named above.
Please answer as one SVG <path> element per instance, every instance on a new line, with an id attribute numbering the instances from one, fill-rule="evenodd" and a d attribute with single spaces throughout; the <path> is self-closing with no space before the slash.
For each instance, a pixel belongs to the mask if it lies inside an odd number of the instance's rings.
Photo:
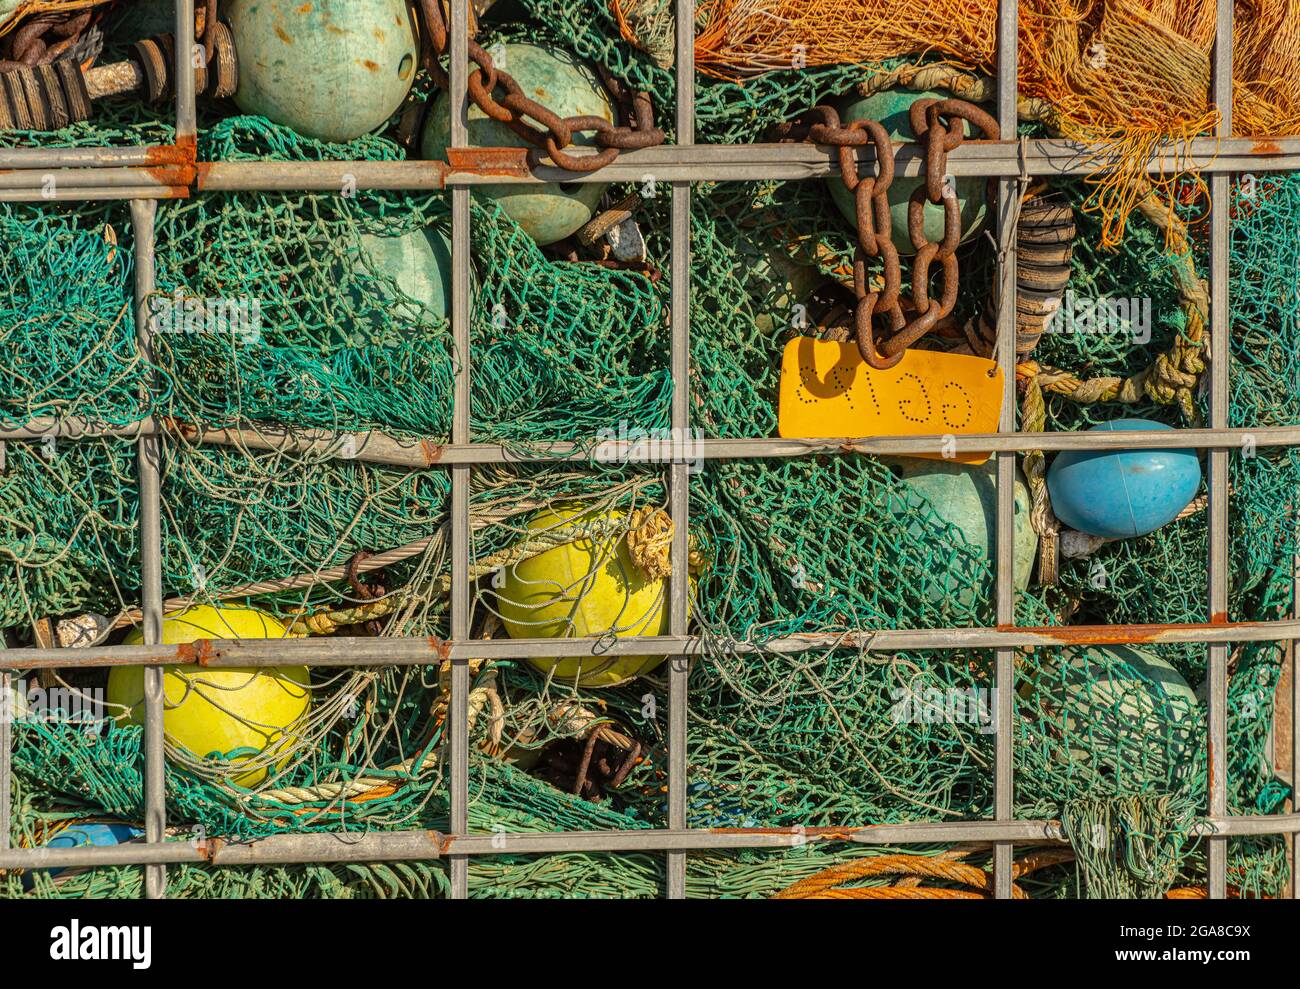
<path id="1" fill-rule="evenodd" d="M 211 669 L 273 667 L 424 665 L 471 659 L 549 659 L 560 656 L 654 656 L 796 654 L 815 649 L 868 652 L 959 649 L 1030 649 L 1175 642 L 1291 642 L 1300 639 L 1300 620 L 1183 625 L 1054 625 L 949 629 L 858 629 L 806 632 L 762 643 L 701 636 L 628 636 L 624 638 L 302 638 L 200 639 L 181 646 L 96 646 L 94 649 L 21 649 L 0 654 L 8 669 L 135 667 L 196 663 Z"/>

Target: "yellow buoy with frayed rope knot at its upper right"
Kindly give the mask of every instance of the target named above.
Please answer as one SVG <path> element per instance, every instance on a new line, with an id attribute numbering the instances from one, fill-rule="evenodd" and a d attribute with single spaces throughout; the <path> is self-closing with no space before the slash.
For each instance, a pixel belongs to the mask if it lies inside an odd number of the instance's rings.
<path id="1" fill-rule="evenodd" d="M 584 533 L 572 542 L 506 567 L 498 607 L 511 638 L 668 634 L 668 581 L 633 561 L 624 512 L 562 506 L 537 515 L 530 533 Z M 616 686 L 649 673 L 664 656 L 530 659 L 581 686 Z"/>

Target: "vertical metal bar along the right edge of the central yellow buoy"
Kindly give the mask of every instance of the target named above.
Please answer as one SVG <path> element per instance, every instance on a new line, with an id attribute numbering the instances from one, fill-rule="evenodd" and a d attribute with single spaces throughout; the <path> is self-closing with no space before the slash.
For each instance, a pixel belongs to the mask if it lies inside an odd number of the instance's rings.
<path id="1" fill-rule="evenodd" d="M 677 0 L 677 146 L 696 143 L 696 0 Z M 690 429 L 690 182 L 672 183 L 672 428 Z M 682 443 L 684 450 L 689 446 Z M 670 625 L 686 634 L 690 595 L 686 558 L 690 526 L 690 468 L 672 465 L 673 524 Z M 686 827 L 686 687 L 689 663 L 673 656 L 668 669 L 668 827 Z M 668 853 L 668 898 L 686 895 L 686 853 Z"/>

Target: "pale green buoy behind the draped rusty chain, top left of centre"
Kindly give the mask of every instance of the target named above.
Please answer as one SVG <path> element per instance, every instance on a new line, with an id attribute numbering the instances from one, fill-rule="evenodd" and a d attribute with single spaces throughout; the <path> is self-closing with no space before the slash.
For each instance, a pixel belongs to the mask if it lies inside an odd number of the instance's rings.
<path id="1" fill-rule="evenodd" d="M 498 65 L 519 83 L 524 95 L 560 117 L 603 117 L 611 123 L 614 104 L 595 73 L 559 48 L 536 44 L 507 44 L 493 49 Z M 446 159 L 451 144 L 451 103 L 447 94 L 429 109 L 421 149 L 425 159 Z M 590 133 L 576 134 L 573 143 L 592 147 Z M 469 144 L 478 148 L 532 147 L 504 123 L 491 120 L 469 105 Z M 497 200 L 516 224 L 540 246 L 554 244 L 589 221 L 604 194 L 599 182 L 573 182 L 543 186 L 478 186 L 477 191 Z"/>

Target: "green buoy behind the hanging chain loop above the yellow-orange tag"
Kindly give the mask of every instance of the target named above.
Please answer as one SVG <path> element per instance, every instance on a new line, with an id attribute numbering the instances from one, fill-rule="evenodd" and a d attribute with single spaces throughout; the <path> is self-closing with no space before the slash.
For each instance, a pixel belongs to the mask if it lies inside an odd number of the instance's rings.
<path id="1" fill-rule="evenodd" d="M 911 104 L 916 100 L 945 100 L 949 99 L 952 94 L 944 92 L 941 90 L 924 90 L 922 92 L 914 92 L 911 90 L 885 90 L 884 92 L 878 92 L 874 96 L 867 96 L 861 100 L 849 100 L 841 107 L 840 120 L 844 123 L 850 123 L 858 120 L 875 120 L 880 121 L 884 129 L 889 133 L 889 139 L 893 142 L 901 140 L 915 140 L 916 135 L 913 134 L 911 121 L 907 118 L 907 112 L 911 109 Z M 980 136 L 979 133 L 966 123 L 966 136 Z M 894 247 L 898 248 L 901 255 L 913 255 L 916 248 L 911 244 L 911 238 L 907 235 L 907 201 L 911 198 L 913 191 L 919 188 L 923 183 L 923 178 L 906 178 L 901 174 L 894 175 L 893 183 L 889 186 L 889 211 L 893 216 L 893 242 Z M 857 227 L 858 214 L 854 208 L 854 198 L 849 192 L 849 187 L 844 185 L 841 178 L 828 178 L 827 183 L 831 190 L 831 199 L 844 213 L 845 218 Z M 984 222 L 984 214 L 988 212 L 988 201 L 985 195 L 985 182 L 982 178 L 958 178 L 957 179 L 957 200 L 961 204 L 961 217 L 962 217 L 962 240 L 966 240 L 974 234 Z M 944 209 L 933 203 L 926 203 L 926 237 L 933 242 L 939 242 L 944 238 Z"/>

